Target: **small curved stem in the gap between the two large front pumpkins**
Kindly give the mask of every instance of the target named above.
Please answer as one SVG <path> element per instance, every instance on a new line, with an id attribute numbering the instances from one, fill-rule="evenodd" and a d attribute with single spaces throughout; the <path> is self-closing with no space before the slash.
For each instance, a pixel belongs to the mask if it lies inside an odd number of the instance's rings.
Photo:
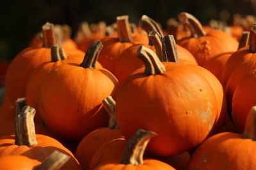
<path id="1" fill-rule="evenodd" d="M 102 103 L 106 111 L 108 111 L 108 115 L 109 115 L 108 127 L 110 129 L 119 129 L 116 121 L 116 102 L 111 96 L 109 96 L 109 97 L 106 97 L 106 99 L 104 99 Z"/>

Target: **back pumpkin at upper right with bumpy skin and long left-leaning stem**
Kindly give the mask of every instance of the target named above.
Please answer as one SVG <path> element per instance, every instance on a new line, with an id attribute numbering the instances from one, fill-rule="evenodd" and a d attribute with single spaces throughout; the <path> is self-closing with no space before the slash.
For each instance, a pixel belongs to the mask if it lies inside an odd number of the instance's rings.
<path id="1" fill-rule="evenodd" d="M 191 32 L 191 38 L 184 38 L 178 44 L 189 50 L 199 66 L 218 53 L 235 51 L 238 47 L 236 39 L 220 30 L 211 30 L 205 33 L 200 22 L 193 15 L 182 12 L 179 20 Z"/>

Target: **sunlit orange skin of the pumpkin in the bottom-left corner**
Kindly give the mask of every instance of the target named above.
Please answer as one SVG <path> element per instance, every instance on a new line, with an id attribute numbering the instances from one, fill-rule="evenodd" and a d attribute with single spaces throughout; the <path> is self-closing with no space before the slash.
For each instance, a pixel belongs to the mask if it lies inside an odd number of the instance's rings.
<path id="1" fill-rule="evenodd" d="M 29 159 L 22 155 L 12 155 L 0 158 L 0 169 L 6 170 L 33 170 L 33 167 L 38 166 L 39 164 L 41 164 L 41 162 L 38 160 Z"/>

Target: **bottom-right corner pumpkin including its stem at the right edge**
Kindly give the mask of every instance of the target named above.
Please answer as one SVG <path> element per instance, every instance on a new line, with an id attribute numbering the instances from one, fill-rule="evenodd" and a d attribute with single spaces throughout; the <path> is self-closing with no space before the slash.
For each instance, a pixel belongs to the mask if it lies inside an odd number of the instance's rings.
<path id="1" fill-rule="evenodd" d="M 255 118 L 253 107 L 243 134 L 223 132 L 206 139 L 192 155 L 188 169 L 256 169 Z"/>

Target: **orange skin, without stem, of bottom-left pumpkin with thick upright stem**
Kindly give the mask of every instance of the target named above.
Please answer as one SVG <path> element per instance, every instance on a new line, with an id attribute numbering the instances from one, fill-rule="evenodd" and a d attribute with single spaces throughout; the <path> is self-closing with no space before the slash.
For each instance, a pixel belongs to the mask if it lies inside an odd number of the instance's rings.
<path id="1" fill-rule="evenodd" d="M 26 146 L 15 145 L 15 136 L 1 136 L 0 138 L 0 157 L 10 155 L 24 155 L 31 159 L 36 159 L 42 162 L 47 156 L 49 156 L 54 150 L 70 155 L 71 159 L 68 160 L 67 166 L 61 169 L 81 169 L 74 155 L 60 142 L 56 141 L 49 136 L 36 134 L 36 141 L 38 145 Z"/>

